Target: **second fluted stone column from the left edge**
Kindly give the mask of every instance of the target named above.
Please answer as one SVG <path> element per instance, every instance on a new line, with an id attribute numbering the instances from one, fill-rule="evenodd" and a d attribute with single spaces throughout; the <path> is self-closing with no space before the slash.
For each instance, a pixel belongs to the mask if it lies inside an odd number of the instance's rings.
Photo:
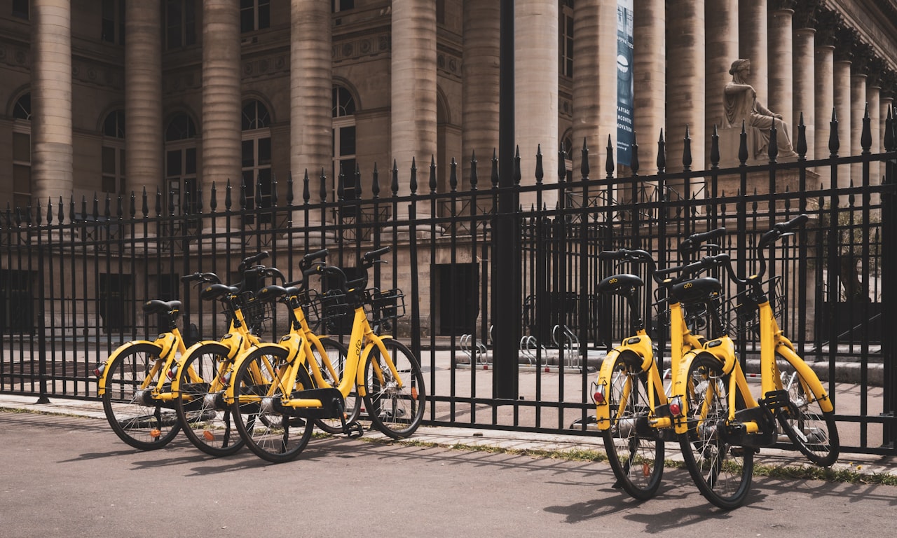
<path id="1" fill-rule="evenodd" d="M 150 200 L 161 188 L 162 43 L 161 0 L 144 0 L 125 10 L 125 179 L 126 192 Z M 152 204 L 151 204 L 152 206 Z"/>

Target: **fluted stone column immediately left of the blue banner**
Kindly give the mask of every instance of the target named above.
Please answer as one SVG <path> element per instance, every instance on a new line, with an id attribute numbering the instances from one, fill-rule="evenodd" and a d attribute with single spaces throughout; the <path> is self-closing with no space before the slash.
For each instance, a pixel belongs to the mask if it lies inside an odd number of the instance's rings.
<path id="1" fill-rule="evenodd" d="M 590 164 L 604 162 L 607 135 L 616 148 L 617 65 L 616 2 L 581 0 L 573 9 L 573 178 L 579 178 L 583 143 Z M 604 70 L 601 68 L 604 67 Z M 518 86 L 519 87 L 519 86 Z M 612 106 L 613 105 L 613 106 Z M 543 145 L 543 152 L 547 148 Z M 614 150 L 614 160 L 616 152 Z"/>

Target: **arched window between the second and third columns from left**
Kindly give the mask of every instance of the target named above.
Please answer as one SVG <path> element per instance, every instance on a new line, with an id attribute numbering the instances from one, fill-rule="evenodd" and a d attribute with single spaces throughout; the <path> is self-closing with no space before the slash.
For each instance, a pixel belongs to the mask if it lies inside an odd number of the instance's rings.
<path id="1" fill-rule="evenodd" d="M 166 205 L 171 213 L 199 211 L 196 201 L 196 124 L 187 114 L 172 117 L 165 128 Z M 171 195 L 169 195 L 171 193 Z"/>

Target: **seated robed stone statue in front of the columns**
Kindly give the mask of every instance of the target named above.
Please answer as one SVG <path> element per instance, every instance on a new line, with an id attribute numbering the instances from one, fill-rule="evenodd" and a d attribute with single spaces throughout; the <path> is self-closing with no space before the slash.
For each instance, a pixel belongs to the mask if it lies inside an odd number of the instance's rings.
<path id="1" fill-rule="evenodd" d="M 782 120 L 781 114 L 764 107 L 757 100 L 757 92 L 753 86 L 747 83 L 747 75 L 751 74 L 751 60 L 743 58 L 732 62 L 729 74 L 732 75 L 732 82 L 726 84 L 726 95 L 723 100 L 728 126 L 740 128 L 744 120 L 745 127 L 756 127 L 760 131 L 759 138 L 762 143 L 753 148 L 753 156 L 762 157 L 769 147 L 770 127 L 775 124 L 779 157 L 796 156 L 797 153 L 791 146 L 788 124 Z"/>

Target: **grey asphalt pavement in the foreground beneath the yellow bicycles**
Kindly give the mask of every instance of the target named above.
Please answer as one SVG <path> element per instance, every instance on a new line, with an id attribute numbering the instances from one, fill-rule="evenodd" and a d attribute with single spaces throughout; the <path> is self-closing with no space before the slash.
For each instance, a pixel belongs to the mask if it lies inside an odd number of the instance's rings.
<path id="1" fill-rule="evenodd" d="M 137 451 L 106 421 L 0 412 L 0 535 L 875 536 L 897 487 L 764 477 L 743 508 L 707 503 L 685 471 L 656 499 L 611 488 L 607 464 L 312 439 L 289 464 L 214 459 L 179 437 Z"/>

